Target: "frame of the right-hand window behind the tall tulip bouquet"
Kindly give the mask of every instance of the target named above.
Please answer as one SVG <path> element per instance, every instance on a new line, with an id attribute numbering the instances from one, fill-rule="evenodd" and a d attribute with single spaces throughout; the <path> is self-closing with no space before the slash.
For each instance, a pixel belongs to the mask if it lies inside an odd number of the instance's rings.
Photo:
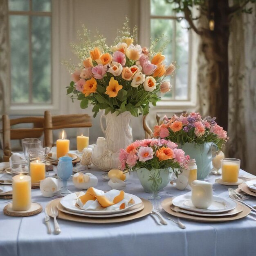
<path id="1" fill-rule="evenodd" d="M 139 43 L 141 45 L 150 45 L 150 20 L 151 18 L 162 18 L 162 16 L 151 16 L 150 0 L 140 2 L 140 26 L 139 26 Z M 171 17 L 169 17 L 171 18 Z M 189 31 L 189 87 L 187 100 L 175 100 L 162 98 L 157 102 L 157 106 L 153 109 L 157 112 L 182 112 L 184 110 L 193 110 L 197 103 L 197 65 L 196 58 L 198 52 L 197 35 L 193 31 Z M 178 63 L 177 63 L 178 64 Z M 175 88 L 173 88 L 175 90 Z M 154 112 L 155 112 L 154 111 Z M 151 112 L 151 110 L 150 110 Z"/>

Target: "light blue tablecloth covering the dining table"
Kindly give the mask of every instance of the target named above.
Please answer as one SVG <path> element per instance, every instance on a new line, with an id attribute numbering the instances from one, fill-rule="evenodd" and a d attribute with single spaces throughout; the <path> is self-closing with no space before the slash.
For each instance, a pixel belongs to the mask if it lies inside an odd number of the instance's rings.
<path id="1" fill-rule="evenodd" d="M 0 163 L 1 164 L 1 163 Z M 77 168 L 76 166 L 73 167 Z M 104 179 L 106 172 L 91 166 L 87 170 L 97 176 L 97 189 L 109 191 L 111 187 Z M 56 166 L 49 171 L 49 177 L 56 173 Z M 243 180 L 256 178 L 240 169 Z M 213 184 L 213 195 L 229 198 L 228 188 L 237 186 L 218 184 L 216 175 L 209 175 L 205 181 Z M 11 179 L 11 175 L 0 174 L 0 180 Z M 67 188 L 79 191 L 72 183 L 72 177 L 67 182 Z M 126 193 L 140 198 L 148 198 L 141 186 L 136 172 L 130 173 L 126 180 Z M 159 191 L 161 199 L 176 197 L 188 190 L 177 190 L 175 184 L 168 184 Z M 0 256 L 236 256 L 256 255 L 256 214 L 250 213 L 245 218 L 228 222 L 195 222 L 180 218 L 186 226 L 181 229 L 168 220 L 178 220 L 165 211 L 161 211 L 168 225 L 158 225 L 151 214 L 119 223 L 81 223 L 58 219 L 60 234 L 47 234 L 45 225 L 46 205 L 53 199 L 43 197 L 40 189 L 32 189 L 32 202 L 42 205 L 43 211 L 29 217 L 5 216 L 4 207 L 11 200 L 0 199 Z M 256 206 L 256 198 L 249 196 L 245 200 L 251 206 Z M 50 220 L 53 227 L 53 219 Z"/>

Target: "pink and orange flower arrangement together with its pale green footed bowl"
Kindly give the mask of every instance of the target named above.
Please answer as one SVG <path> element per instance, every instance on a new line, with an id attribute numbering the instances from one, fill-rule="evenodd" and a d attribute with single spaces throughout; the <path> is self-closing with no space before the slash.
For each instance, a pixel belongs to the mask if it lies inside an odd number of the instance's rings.
<path id="1" fill-rule="evenodd" d="M 170 182 L 171 168 L 175 174 L 188 168 L 189 155 L 177 146 L 165 139 L 137 140 L 120 150 L 121 169 L 137 171 L 144 190 L 153 192 L 149 199 L 159 199 L 157 191 Z"/>

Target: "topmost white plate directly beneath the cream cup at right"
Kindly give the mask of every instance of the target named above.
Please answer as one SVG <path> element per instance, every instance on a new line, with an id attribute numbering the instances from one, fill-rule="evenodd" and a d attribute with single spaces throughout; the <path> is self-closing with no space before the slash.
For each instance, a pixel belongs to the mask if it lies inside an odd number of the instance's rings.
<path id="1" fill-rule="evenodd" d="M 213 195 L 213 202 L 208 209 L 196 208 L 191 201 L 191 192 L 174 198 L 173 205 L 180 207 L 181 209 L 209 214 L 224 213 L 236 208 L 236 202 L 233 200 L 229 198 L 220 198 L 216 195 Z"/>

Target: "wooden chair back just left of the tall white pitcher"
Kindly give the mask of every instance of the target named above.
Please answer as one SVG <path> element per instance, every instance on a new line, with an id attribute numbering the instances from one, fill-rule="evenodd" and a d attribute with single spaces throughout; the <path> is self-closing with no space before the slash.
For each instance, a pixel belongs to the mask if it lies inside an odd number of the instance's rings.
<path id="1" fill-rule="evenodd" d="M 87 114 L 52 116 L 50 111 L 45 111 L 45 146 L 50 148 L 54 146 L 53 130 L 91 126 L 91 117 Z"/>

